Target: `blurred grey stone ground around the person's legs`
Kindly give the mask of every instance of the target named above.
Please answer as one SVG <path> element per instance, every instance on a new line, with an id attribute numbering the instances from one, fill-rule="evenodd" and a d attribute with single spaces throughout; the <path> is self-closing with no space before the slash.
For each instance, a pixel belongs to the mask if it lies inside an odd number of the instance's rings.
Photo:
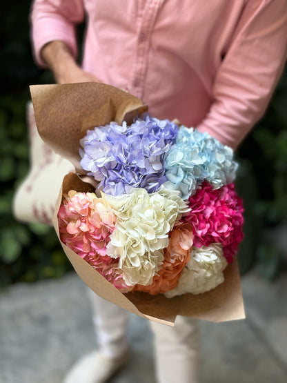
<path id="1" fill-rule="evenodd" d="M 270 284 L 250 273 L 243 291 L 246 320 L 201 322 L 201 383 L 287 381 L 286 275 Z M 132 360 L 111 382 L 155 383 L 148 321 L 130 314 L 128 336 Z M 60 383 L 93 348 L 86 287 L 77 275 L 0 293 L 0 383 Z"/>

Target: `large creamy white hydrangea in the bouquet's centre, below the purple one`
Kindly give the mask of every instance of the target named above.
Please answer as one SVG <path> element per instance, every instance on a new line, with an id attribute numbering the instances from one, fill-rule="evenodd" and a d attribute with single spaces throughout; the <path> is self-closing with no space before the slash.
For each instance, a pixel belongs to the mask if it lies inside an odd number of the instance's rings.
<path id="1" fill-rule="evenodd" d="M 129 195 L 103 195 L 103 198 L 118 217 L 107 254 L 119 257 L 119 267 L 128 286 L 147 286 L 161 269 L 168 233 L 187 206 L 175 198 L 175 192 L 148 194 L 139 188 L 133 188 Z"/>

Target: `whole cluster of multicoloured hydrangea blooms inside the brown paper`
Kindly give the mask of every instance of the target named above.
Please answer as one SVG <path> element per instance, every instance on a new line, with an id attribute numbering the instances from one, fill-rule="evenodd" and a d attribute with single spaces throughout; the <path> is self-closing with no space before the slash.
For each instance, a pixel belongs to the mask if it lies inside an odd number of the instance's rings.
<path id="1" fill-rule="evenodd" d="M 224 282 L 243 237 L 232 149 L 208 133 L 133 114 L 78 133 L 75 168 L 89 186 L 63 188 L 61 242 L 131 301 L 210 291 Z"/>

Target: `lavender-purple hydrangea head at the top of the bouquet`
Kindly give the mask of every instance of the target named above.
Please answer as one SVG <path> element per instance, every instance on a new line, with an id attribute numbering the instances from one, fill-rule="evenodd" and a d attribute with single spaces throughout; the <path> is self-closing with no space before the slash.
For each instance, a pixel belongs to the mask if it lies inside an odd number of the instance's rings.
<path id="1" fill-rule="evenodd" d="M 173 122 L 149 115 L 131 126 L 99 126 L 81 139 L 81 167 L 100 182 L 104 193 L 121 195 L 133 187 L 153 193 L 166 182 L 164 159 L 177 132 Z"/>

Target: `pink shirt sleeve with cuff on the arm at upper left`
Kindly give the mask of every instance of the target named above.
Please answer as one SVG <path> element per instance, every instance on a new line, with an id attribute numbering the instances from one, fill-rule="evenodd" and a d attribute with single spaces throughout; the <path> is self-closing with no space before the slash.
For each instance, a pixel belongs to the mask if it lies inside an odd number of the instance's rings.
<path id="1" fill-rule="evenodd" d="M 77 57 L 75 24 L 83 21 L 82 0 L 34 0 L 30 13 L 31 40 L 35 61 L 46 66 L 41 59 L 41 48 L 50 41 L 63 41 Z"/>

